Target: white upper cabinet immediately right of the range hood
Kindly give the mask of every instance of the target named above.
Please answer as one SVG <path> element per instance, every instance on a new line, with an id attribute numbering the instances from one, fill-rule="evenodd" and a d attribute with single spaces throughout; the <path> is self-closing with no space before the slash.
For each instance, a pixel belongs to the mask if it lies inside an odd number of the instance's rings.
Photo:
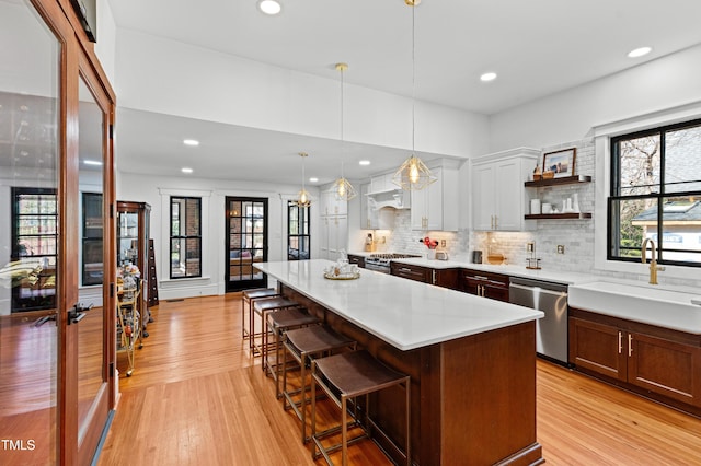
<path id="1" fill-rule="evenodd" d="M 429 170 L 436 182 L 411 194 L 412 230 L 458 231 L 458 168 L 460 162 L 444 160 Z"/>

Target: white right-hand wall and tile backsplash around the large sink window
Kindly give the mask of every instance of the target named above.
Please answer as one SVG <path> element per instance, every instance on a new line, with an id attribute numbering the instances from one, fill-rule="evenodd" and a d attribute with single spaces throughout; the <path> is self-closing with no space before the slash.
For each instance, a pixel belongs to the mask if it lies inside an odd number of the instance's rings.
<path id="1" fill-rule="evenodd" d="M 535 232 L 495 235 L 509 261 L 522 263 L 525 243 L 535 241 L 543 268 L 646 281 L 645 266 L 606 260 L 608 137 L 701 116 L 700 74 L 701 46 L 697 46 L 492 116 L 492 151 L 527 145 L 550 152 L 576 147 L 575 173 L 591 175 L 594 180 L 591 186 L 540 193 L 543 199 L 560 202 L 578 191 L 583 211 L 594 213 L 591 220 L 538 221 Z M 486 236 L 474 234 L 472 244 L 486 247 Z M 555 253 L 558 244 L 565 246 L 564 256 Z M 701 272 L 667 267 L 659 281 L 699 287 Z"/>

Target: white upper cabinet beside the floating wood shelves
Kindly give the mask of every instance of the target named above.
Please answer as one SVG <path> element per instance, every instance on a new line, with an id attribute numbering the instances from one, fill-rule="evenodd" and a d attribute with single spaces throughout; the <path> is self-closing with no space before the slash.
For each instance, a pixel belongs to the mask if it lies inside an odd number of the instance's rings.
<path id="1" fill-rule="evenodd" d="M 524 220 L 528 196 L 524 182 L 529 179 L 540 151 L 519 148 L 472 161 L 472 221 L 474 230 L 524 231 L 535 222 Z"/>

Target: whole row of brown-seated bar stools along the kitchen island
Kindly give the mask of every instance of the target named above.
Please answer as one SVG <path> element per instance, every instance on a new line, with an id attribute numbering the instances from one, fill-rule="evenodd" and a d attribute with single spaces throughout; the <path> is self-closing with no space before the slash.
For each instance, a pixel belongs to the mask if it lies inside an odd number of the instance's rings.
<path id="1" fill-rule="evenodd" d="M 248 303 L 249 314 L 261 317 L 263 330 L 256 335 L 251 319 L 249 331 L 242 331 L 242 338 L 250 342 L 251 358 L 260 356 L 263 371 L 274 380 L 275 396 L 283 399 L 283 409 L 292 409 L 301 421 L 301 442 L 313 442 L 312 459 L 323 456 L 333 466 L 330 454 L 341 450 L 342 464 L 346 466 L 348 445 L 371 438 L 371 433 L 380 434 L 386 442 L 393 443 L 392 438 L 370 417 L 370 395 L 398 385 L 403 387 L 405 398 L 404 450 L 394 446 L 402 452 L 406 464 L 411 464 L 411 442 L 407 441 L 411 438 L 411 377 L 388 368 L 368 351 L 357 351 L 354 339 L 323 325 L 322 318 L 280 294 L 272 289 L 243 293 L 242 313 Z M 309 374 L 308 366 L 311 366 Z M 290 384 L 288 382 L 292 377 L 288 374 L 292 371 L 297 371 L 294 376 L 296 382 Z M 317 385 L 321 387 L 323 397 L 317 396 Z M 311 392 L 309 398 L 308 392 Z M 358 400 L 363 396 L 364 399 Z M 333 403 L 341 409 L 340 422 L 321 432 L 317 432 L 318 400 Z M 311 436 L 307 436 L 309 405 Z M 348 439 L 349 429 L 354 435 L 352 439 Z M 360 429 L 360 432 L 356 433 L 356 429 Z M 332 444 L 324 443 L 327 438 L 337 438 L 338 432 L 340 442 L 333 443 L 332 440 Z"/>

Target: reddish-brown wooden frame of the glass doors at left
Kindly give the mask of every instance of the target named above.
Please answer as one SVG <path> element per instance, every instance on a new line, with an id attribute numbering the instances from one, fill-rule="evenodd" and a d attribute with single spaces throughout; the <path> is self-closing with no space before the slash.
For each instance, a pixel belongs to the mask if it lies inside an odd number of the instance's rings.
<path id="1" fill-rule="evenodd" d="M 78 83 L 82 73 L 88 82 L 96 84 L 100 89 L 94 92 L 95 97 L 103 104 L 107 121 L 105 128 L 114 125 L 114 109 L 116 96 L 110 85 L 106 73 L 102 69 L 94 51 L 94 44 L 88 40 L 80 21 L 70 5 L 69 0 L 30 0 L 45 24 L 54 33 L 60 46 L 59 66 L 59 180 L 57 190 L 59 214 L 59 251 L 58 251 L 58 280 L 57 294 L 57 393 L 56 393 L 56 435 L 57 435 L 57 463 L 60 465 L 85 464 L 92 459 L 92 452 L 79 448 L 78 445 L 78 391 L 74 381 L 78 380 L 78 331 L 77 326 L 68 325 L 68 311 L 79 301 L 79 264 L 76 247 L 79 244 L 79 209 L 72 206 L 79 205 L 79 160 L 78 160 L 78 112 L 79 95 Z M 105 105 L 106 103 L 106 105 Z M 110 135 L 106 135 L 110 136 Z M 105 311 L 106 325 L 103 339 L 106 361 L 105 368 L 112 368 L 115 360 L 115 334 L 106 331 L 110 322 L 114 322 L 114 313 L 106 312 L 114 308 L 114 257 L 116 245 L 114 241 L 114 159 L 112 139 L 104 138 L 104 214 L 105 214 L 105 242 L 107 252 L 103 253 L 104 280 L 103 280 L 103 310 Z M 112 381 L 112 374 L 106 374 L 107 381 Z M 114 408 L 114 383 L 107 383 L 107 394 L 103 398 L 108 409 Z M 106 417 L 105 417 L 106 422 Z M 102 429 L 90 432 L 85 442 L 97 445 L 102 435 Z M 92 448 L 91 448 L 92 450 Z M 90 457 L 88 457 L 90 455 Z"/>

